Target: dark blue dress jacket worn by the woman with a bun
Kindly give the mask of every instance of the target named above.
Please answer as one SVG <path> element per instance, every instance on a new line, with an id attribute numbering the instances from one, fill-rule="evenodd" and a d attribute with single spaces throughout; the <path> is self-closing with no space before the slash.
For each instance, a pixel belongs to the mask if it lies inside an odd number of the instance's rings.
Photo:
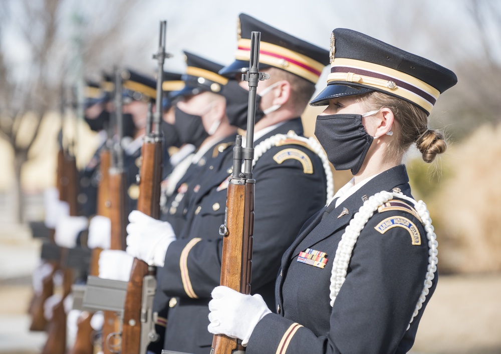
<path id="1" fill-rule="evenodd" d="M 275 313 L 258 323 L 247 344 L 247 354 L 404 353 L 410 349 L 437 280 L 435 273 L 423 308 L 406 330 L 428 265 L 426 233 L 413 214 L 401 210 L 374 212 L 355 244 L 346 281 L 334 306 L 329 304 L 332 264 L 345 227 L 362 206 L 364 195 L 370 197 L 394 187 L 411 196 L 404 165 L 374 177 L 337 208 L 330 212 L 324 208 L 305 224 L 282 257 Z M 338 217 L 344 208 L 349 214 Z M 384 234 L 374 229 L 392 216 L 412 221 L 421 244 L 413 245 L 409 232 L 402 227 L 387 229 Z M 327 253 L 324 269 L 297 261 L 306 248 Z"/>

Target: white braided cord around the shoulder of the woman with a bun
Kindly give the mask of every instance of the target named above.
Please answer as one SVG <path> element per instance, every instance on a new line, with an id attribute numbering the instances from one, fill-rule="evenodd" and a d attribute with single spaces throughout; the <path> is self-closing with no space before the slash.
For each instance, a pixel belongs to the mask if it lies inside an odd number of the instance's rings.
<path id="1" fill-rule="evenodd" d="M 409 329 L 410 323 L 412 323 L 412 320 L 421 309 L 423 302 L 426 299 L 426 295 L 428 295 L 429 289 L 432 285 L 431 281 L 435 277 L 438 262 L 438 242 L 436 240 L 433 225 L 431 225 L 430 213 L 426 208 L 426 204 L 422 200 L 417 202 L 414 199 L 403 195 L 402 193 L 390 193 L 387 191 L 376 193 L 368 200 L 366 200 L 364 205 L 362 205 L 359 211 L 353 216 L 353 219 L 350 221 L 350 224 L 346 227 L 345 232 L 341 237 L 341 241 L 339 241 L 338 248 L 336 250 L 336 256 L 334 257 L 331 273 L 330 304 L 331 306 L 334 305 L 336 296 L 338 295 L 339 290 L 341 289 L 341 286 L 346 279 L 348 263 L 350 263 L 351 253 L 353 252 L 353 247 L 357 242 L 358 236 L 360 236 L 360 232 L 365 227 L 365 224 L 371 218 L 377 208 L 380 205 L 386 203 L 388 200 L 393 199 L 393 197 L 404 199 L 414 204 L 415 209 L 422 220 L 424 229 L 426 230 L 426 238 L 428 239 L 429 247 L 428 271 L 426 272 L 423 290 L 421 291 L 421 295 L 419 296 L 419 300 L 417 301 L 414 313 L 412 314 L 409 325 L 407 326 L 407 329 Z"/>

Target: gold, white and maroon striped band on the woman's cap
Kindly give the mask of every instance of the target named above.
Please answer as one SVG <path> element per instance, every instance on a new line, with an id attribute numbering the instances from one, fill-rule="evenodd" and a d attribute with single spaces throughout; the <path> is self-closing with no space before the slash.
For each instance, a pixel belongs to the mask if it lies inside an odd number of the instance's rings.
<path id="1" fill-rule="evenodd" d="M 345 81 L 374 87 L 402 97 L 431 113 L 440 92 L 411 75 L 382 65 L 355 59 L 335 58 L 327 84 Z"/>

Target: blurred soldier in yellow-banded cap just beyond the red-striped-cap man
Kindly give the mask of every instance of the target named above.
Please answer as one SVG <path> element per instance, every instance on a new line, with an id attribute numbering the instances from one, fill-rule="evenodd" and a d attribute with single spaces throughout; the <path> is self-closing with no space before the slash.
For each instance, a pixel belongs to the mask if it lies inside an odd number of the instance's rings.
<path id="1" fill-rule="evenodd" d="M 190 144 L 196 150 L 179 162 L 162 182 L 160 197 L 160 220 L 168 221 L 175 234 L 180 234 L 184 227 L 192 194 L 204 185 L 210 174 L 227 169 L 236 135 L 236 127 L 229 125 L 225 111 L 224 85 L 228 79 L 217 74 L 223 66 L 189 52 L 184 54 L 185 86 L 169 97 L 176 101 L 171 129 L 177 132 L 180 145 Z M 162 271 L 159 267 L 157 276 L 160 277 Z M 161 290 L 155 293 L 153 311 L 158 313 L 156 329 L 160 339 L 150 344 L 152 352 L 160 352 L 163 347 L 169 300 Z"/>

